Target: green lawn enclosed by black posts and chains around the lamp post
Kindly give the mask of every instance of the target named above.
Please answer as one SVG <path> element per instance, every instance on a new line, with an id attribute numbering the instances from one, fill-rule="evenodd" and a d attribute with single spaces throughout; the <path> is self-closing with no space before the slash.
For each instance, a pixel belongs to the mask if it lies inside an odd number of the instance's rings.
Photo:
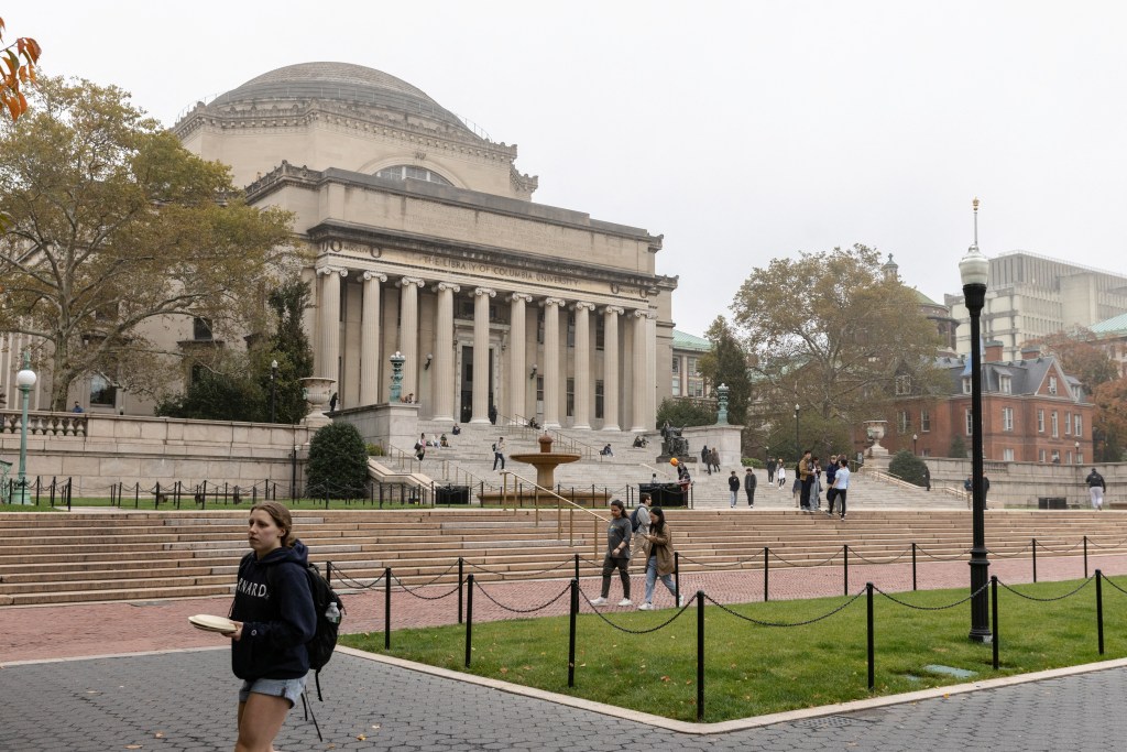
<path id="1" fill-rule="evenodd" d="M 1027 595 L 1063 595 L 1082 581 L 1014 585 Z M 1127 577 L 1116 580 L 1127 590 Z M 955 603 L 966 591 L 900 593 L 914 605 Z M 825 614 L 844 598 L 752 603 L 736 612 L 773 622 Z M 868 689 L 866 599 L 801 627 L 762 627 L 722 610 L 706 609 L 706 722 L 757 716 L 964 681 L 932 673 L 928 665 L 975 672 L 973 680 L 1006 676 L 1127 656 L 1127 594 L 1103 583 L 1106 654 L 1098 654 L 1095 583 L 1061 601 L 1041 603 L 999 589 L 1000 669 L 990 645 L 967 639 L 970 604 L 919 611 L 875 596 L 876 689 Z M 618 626 L 657 627 L 675 613 L 611 613 Z M 341 644 L 420 663 L 469 671 L 680 720 L 696 718 L 696 611 L 690 608 L 657 631 L 631 635 L 595 616 L 580 616 L 576 687 L 567 687 L 568 618 L 476 623 L 470 669 L 464 667 L 463 626 L 343 636 Z"/>

